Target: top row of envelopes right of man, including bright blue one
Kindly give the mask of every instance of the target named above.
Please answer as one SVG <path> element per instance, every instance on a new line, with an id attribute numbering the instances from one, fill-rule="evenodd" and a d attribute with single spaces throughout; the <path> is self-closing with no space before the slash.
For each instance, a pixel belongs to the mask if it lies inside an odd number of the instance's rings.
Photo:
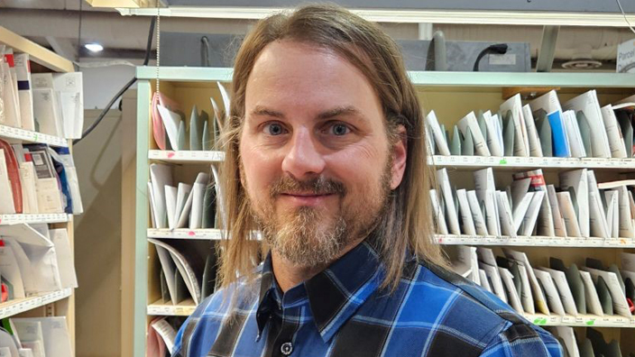
<path id="1" fill-rule="evenodd" d="M 470 112 L 451 135 L 432 111 L 426 128 L 437 155 L 627 159 L 635 153 L 634 114 L 635 96 L 600 107 L 590 90 L 561 106 L 552 90 L 527 105 L 512 96 L 498 113 Z"/>

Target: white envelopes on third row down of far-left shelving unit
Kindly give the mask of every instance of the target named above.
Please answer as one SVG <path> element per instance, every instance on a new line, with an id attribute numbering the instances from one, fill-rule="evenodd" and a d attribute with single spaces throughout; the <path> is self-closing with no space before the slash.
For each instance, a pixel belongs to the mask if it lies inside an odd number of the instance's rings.
<path id="1" fill-rule="evenodd" d="M 48 224 L 0 226 L 2 302 L 77 288 L 69 233 Z"/>

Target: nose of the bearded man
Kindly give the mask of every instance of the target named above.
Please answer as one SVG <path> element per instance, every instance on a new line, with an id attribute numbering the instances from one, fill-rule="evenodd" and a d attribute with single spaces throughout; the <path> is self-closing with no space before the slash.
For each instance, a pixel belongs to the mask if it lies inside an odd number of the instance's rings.
<path id="1" fill-rule="evenodd" d="M 318 151 L 311 133 L 307 128 L 300 128 L 293 133 L 289 142 L 282 170 L 297 179 L 303 179 L 320 174 L 325 168 L 325 160 Z"/>

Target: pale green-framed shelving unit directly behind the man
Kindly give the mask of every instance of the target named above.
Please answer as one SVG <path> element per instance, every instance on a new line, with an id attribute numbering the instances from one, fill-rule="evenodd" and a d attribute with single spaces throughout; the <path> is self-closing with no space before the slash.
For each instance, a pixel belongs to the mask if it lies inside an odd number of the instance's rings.
<path id="1" fill-rule="evenodd" d="M 145 332 L 152 316 L 188 316 L 193 306 L 180 304 L 177 307 L 159 304 L 155 275 L 160 265 L 149 244 L 148 237 L 164 239 L 181 239 L 192 241 L 216 240 L 221 237 L 217 230 L 155 230 L 149 227 L 149 204 L 147 182 L 149 180 L 149 164 L 155 161 L 170 162 L 182 165 L 179 170 L 190 167 L 205 167 L 221 159 L 221 153 L 210 152 L 207 157 L 199 156 L 193 151 L 156 151 L 152 141 L 150 125 L 150 99 L 156 78 L 156 69 L 140 67 L 137 69 L 139 79 L 137 89 L 137 160 L 136 176 L 136 237 L 135 237 L 135 310 L 134 310 L 134 356 L 143 357 L 145 353 Z M 183 108 L 189 110 L 192 105 L 198 109 L 211 111 L 209 97 L 220 101 L 216 89 L 216 81 L 229 81 L 232 69 L 211 68 L 161 68 L 161 91 L 177 100 Z M 566 101 L 584 91 L 597 89 L 601 104 L 613 103 L 623 97 L 635 93 L 635 75 L 612 73 L 481 73 L 481 72 L 410 72 L 410 78 L 418 89 L 419 99 L 426 112 L 435 110 L 439 121 L 446 127 L 455 124 L 467 112 L 472 110 L 498 109 L 504 100 L 503 92 L 508 93 L 511 87 L 557 87 L 558 96 Z M 213 157 L 213 159 L 212 159 Z M 484 157 L 441 157 L 430 158 L 430 163 L 437 167 L 447 167 L 456 175 L 459 187 L 474 186 L 472 175 L 465 172 L 474 169 L 492 167 L 497 180 L 502 176 L 511 176 L 510 170 L 543 169 L 549 183 L 557 178 L 557 172 L 564 169 L 587 168 L 602 172 L 603 178 L 630 178 L 635 172 L 635 160 L 603 160 L 603 159 L 562 159 L 562 158 L 484 158 Z M 607 179 L 608 180 L 608 179 Z M 603 240 L 597 238 L 579 239 L 562 237 L 478 237 L 437 235 L 437 242 L 443 244 L 448 252 L 453 245 L 487 245 L 496 247 L 516 246 L 527 252 L 529 260 L 537 265 L 546 265 L 549 255 L 557 256 L 571 262 L 584 261 L 586 256 L 594 256 L 612 263 L 619 260 L 620 252 L 630 252 L 635 242 L 630 239 Z M 603 249 L 597 249 L 603 248 Z M 632 334 L 630 328 L 635 327 L 635 319 L 621 316 L 542 316 L 526 315 L 537 325 L 570 325 L 623 328 L 611 330 L 612 336 L 624 343 L 629 343 Z M 635 351 L 635 346 L 629 345 Z"/>

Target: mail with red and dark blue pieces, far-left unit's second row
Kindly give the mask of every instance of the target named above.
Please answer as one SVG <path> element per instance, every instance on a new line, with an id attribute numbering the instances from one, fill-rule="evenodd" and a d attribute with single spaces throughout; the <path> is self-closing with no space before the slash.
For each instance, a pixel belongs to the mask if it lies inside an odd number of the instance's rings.
<path id="1" fill-rule="evenodd" d="M 10 145 L 0 139 L 0 197 L 0 214 L 83 212 L 68 148 Z"/>

